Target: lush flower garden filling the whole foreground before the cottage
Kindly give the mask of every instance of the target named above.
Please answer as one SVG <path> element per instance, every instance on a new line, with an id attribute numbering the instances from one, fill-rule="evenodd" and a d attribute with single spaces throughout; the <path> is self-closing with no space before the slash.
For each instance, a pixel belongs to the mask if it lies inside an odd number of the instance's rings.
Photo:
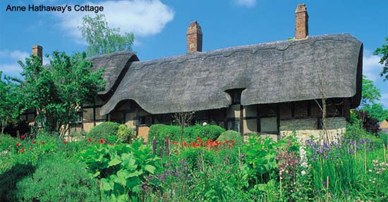
<path id="1" fill-rule="evenodd" d="M 1 134 L 2 201 L 388 200 L 388 135 L 356 124 L 322 144 L 214 125 L 152 125 L 144 144 L 114 122 L 71 138 Z"/>

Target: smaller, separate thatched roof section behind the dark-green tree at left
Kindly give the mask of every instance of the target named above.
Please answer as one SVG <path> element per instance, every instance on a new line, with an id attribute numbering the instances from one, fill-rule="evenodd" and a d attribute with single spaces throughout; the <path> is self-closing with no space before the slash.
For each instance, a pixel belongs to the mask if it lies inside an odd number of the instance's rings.
<path id="1" fill-rule="evenodd" d="M 123 75 L 127 72 L 131 62 L 139 61 L 135 53 L 131 51 L 120 51 L 111 54 L 104 54 L 90 58 L 93 62 L 92 71 L 104 68 L 102 78 L 107 82 L 104 91 L 99 95 L 113 94 Z"/>

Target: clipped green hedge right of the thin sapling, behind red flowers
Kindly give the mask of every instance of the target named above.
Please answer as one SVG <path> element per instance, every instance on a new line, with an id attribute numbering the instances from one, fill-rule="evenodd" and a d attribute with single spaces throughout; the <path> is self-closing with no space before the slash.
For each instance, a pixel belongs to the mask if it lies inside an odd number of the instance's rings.
<path id="1" fill-rule="evenodd" d="M 224 128 L 218 125 L 194 125 L 192 127 L 186 127 L 185 137 L 186 141 L 195 141 L 198 137 L 201 139 L 216 140 L 223 132 L 225 132 Z"/>

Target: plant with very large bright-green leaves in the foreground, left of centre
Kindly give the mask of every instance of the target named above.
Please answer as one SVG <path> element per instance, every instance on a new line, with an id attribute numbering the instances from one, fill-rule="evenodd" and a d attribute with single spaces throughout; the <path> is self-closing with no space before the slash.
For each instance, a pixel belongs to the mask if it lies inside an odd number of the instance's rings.
<path id="1" fill-rule="evenodd" d="M 142 139 L 130 145 L 97 144 L 81 152 L 79 157 L 100 179 L 100 189 L 111 196 L 111 201 L 138 197 L 141 182 L 154 174 L 158 162 L 150 147 L 143 146 Z"/>

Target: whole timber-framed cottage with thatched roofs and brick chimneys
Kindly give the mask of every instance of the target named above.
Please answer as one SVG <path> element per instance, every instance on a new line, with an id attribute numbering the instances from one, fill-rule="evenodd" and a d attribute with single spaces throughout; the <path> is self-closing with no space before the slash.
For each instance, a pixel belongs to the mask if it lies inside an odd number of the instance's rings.
<path id="1" fill-rule="evenodd" d="M 341 135 L 360 103 L 363 44 L 350 34 L 308 35 L 305 5 L 296 8 L 295 38 L 202 51 L 198 22 L 187 30 L 187 53 L 140 61 L 121 51 L 91 58 L 105 68 L 105 91 L 84 106 L 74 130 L 104 121 L 125 123 L 139 136 L 171 114 L 194 111 L 194 122 L 274 139 L 322 132 L 322 97 L 328 132 Z"/>

